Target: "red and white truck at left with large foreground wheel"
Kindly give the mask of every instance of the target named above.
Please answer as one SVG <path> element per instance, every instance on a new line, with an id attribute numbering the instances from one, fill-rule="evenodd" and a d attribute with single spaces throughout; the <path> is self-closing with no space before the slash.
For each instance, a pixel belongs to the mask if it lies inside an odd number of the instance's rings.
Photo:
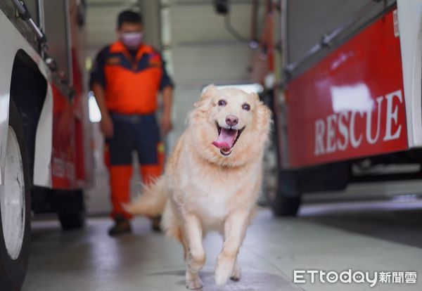
<path id="1" fill-rule="evenodd" d="M 84 222 L 91 181 L 84 3 L 0 0 L 0 290 L 25 277 L 32 213 Z"/>

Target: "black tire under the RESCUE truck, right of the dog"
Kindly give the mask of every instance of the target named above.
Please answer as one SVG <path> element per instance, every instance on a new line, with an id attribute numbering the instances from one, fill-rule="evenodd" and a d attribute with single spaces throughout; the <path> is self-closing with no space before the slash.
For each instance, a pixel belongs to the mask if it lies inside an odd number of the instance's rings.
<path id="1" fill-rule="evenodd" d="M 298 175 L 293 171 L 280 170 L 276 195 L 271 198 L 271 209 L 276 216 L 296 216 L 302 201 Z"/>

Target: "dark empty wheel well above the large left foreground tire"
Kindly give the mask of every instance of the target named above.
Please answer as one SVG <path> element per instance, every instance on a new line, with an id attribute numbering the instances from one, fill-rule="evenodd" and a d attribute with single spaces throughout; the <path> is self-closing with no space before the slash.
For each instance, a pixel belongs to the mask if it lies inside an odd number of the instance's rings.
<path id="1" fill-rule="evenodd" d="M 23 133 L 30 165 L 31 183 L 34 176 L 35 135 L 41 110 L 46 98 L 47 82 L 34 60 L 19 50 L 13 61 L 11 100 L 23 122 Z"/>

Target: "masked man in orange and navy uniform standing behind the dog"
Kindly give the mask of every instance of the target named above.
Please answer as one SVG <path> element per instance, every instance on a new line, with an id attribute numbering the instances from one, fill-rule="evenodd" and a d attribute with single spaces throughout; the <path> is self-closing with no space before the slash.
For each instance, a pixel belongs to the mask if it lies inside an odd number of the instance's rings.
<path id="1" fill-rule="evenodd" d="M 131 231 L 132 216 L 124 211 L 122 204 L 130 200 L 132 152 L 138 155 L 143 183 L 151 183 L 160 176 L 164 164 L 160 131 L 165 135 L 172 129 L 174 84 L 160 53 L 143 43 L 142 30 L 140 13 L 120 13 L 118 40 L 98 53 L 91 71 L 90 87 L 101 111 L 101 131 L 106 137 L 111 216 L 115 221 L 110 235 Z M 160 127 L 155 119 L 159 92 L 163 107 Z"/>

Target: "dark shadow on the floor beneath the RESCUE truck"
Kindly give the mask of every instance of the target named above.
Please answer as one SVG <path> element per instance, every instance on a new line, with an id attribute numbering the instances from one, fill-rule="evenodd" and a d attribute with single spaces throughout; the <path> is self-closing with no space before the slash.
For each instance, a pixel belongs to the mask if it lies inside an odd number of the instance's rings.
<path id="1" fill-rule="evenodd" d="M 402 207 L 385 201 L 304 205 L 300 219 L 422 248 L 422 207 L 419 202 L 409 203 Z"/>

